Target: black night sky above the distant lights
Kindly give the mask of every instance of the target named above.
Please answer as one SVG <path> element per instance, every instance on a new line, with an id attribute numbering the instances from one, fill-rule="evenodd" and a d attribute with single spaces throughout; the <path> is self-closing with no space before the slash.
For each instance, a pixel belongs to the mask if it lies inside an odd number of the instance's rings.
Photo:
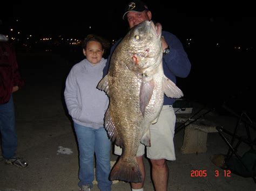
<path id="1" fill-rule="evenodd" d="M 1 8 L 4 32 L 10 27 L 36 36 L 62 35 L 84 38 L 97 33 L 109 39 L 123 37 L 128 30 L 122 20 L 125 2 L 129 1 L 38 1 L 9 3 Z M 153 20 L 163 30 L 186 38 L 234 38 L 235 43 L 255 42 L 254 6 L 239 2 L 224 5 L 221 1 L 197 4 L 173 1 L 145 1 Z M 2 5 L 2 4 L 1 4 Z M 18 19 L 18 22 L 16 20 Z M 91 26 L 91 29 L 90 29 Z"/>

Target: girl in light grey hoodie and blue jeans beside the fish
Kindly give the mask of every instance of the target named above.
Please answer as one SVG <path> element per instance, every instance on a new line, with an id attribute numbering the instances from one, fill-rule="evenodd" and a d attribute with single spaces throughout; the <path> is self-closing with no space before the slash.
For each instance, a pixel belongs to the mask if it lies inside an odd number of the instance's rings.
<path id="1" fill-rule="evenodd" d="M 79 147 L 80 190 L 90 190 L 95 178 L 93 157 L 96 155 L 96 177 L 100 190 L 111 190 L 109 181 L 111 142 L 103 127 L 109 98 L 97 89 L 103 77 L 106 59 L 105 40 L 89 35 L 83 42 L 86 59 L 72 67 L 66 79 L 65 102 L 73 119 Z"/>

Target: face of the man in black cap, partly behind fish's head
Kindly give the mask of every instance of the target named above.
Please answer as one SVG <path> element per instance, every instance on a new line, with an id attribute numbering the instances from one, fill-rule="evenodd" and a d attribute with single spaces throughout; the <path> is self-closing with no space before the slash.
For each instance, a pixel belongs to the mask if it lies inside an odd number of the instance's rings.
<path id="1" fill-rule="evenodd" d="M 130 11 L 127 13 L 127 20 L 131 29 L 133 26 L 144 22 L 144 20 L 151 20 L 151 12 L 147 10 L 142 12 Z"/>

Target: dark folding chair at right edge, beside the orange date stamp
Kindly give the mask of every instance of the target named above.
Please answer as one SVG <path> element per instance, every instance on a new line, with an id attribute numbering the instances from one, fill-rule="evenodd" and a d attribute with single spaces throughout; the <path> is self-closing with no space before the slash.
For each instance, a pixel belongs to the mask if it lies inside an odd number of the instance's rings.
<path id="1" fill-rule="evenodd" d="M 216 129 L 219 132 L 221 138 L 228 146 L 228 152 L 225 155 L 226 168 L 230 168 L 231 172 L 245 178 L 251 177 L 256 183 L 256 138 L 255 131 L 256 125 L 252 122 L 250 117 L 245 111 L 242 111 L 240 115 L 228 108 L 226 104 L 223 104 L 223 108 L 237 118 L 237 123 L 234 127 L 234 131 L 228 131 L 223 126 L 218 126 Z M 238 128 L 244 126 L 246 136 L 238 135 Z M 231 139 L 228 141 L 227 136 Z M 250 147 L 250 151 L 245 152 L 242 156 L 238 154 L 238 148 L 241 143 L 245 143 Z"/>

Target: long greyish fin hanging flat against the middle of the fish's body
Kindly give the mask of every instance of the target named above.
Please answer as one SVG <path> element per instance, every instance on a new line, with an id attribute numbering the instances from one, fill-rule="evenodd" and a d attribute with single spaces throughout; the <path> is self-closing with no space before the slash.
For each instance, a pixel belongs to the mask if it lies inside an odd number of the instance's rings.
<path id="1" fill-rule="evenodd" d="M 140 84 L 139 90 L 139 105 L 140 111 L 142 111 L 142 115 L 144 117 L 146 106 L 149 104 L 151 100 L 151 96 L 154 90 L 154 80 L 151 79 L 150 81 L 147 80 L 147 77 L 142 77 L 142 84 Z"/>

